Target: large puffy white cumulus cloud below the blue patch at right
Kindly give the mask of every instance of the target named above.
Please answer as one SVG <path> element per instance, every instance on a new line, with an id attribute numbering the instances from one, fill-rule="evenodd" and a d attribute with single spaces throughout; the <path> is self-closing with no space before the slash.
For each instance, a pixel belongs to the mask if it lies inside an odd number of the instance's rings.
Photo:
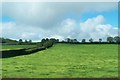
<path id="1" fill-rule="evenodd" d="M 114 29 L 114 26 L 104 23 L 105 18 L 102 15 L 98 15 L 95 18 L 88 19 L 85 22 L 80 23 L 81 36 L 93 38 L 98 40 L 103 38 L 104 40 L 108 36 L 118 35 L 117 28 Z"/>

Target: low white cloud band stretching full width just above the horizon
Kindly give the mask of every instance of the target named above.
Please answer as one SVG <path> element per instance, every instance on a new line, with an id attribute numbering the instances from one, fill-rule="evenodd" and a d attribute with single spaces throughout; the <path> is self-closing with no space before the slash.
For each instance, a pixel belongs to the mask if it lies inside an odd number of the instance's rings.
<path id="1" fill-rule="evenodd" d="M 73 19 L 65 19 L 57 27 L 53 29 L 42 29 L 41 27 L 32 27 L 26 25 L 16 25 L 14 22 L 3 23 L 3 36 L 13 39 L 32 39 L 39 41 L 42 38 L 83 38 L 98 40 L 102 38 L 106 40 L 108 36 L 118 35 L 118 28 L 114 28 L 110 24 L 106 24 L 105 18 L 98 15 L 94 18 L 89 18 L 84 22 L 77 23 Z M 78 25 L 79 24 L 79 25 Z M 29 28 L 28 28 L 29 27 Z"/>

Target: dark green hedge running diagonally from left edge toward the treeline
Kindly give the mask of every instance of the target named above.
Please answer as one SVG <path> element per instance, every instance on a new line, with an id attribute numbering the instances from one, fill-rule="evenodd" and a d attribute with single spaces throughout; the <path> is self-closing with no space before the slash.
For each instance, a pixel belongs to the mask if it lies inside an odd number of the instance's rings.
<path id="1" fill-rule="evenodd" d="M 45 50 L 46 48 L 52 47 L 53 43 L 54 43 L 53 40 L 48 40 L 42 44 L 39 43 L 36 47 L 33 47 L 33 48 L 19 49 L 19 50 L 5 50 L 5 51 L 2 51 L 2 58 L 15 57 L 20 55 L 35 53 L 41 50 Z"/>

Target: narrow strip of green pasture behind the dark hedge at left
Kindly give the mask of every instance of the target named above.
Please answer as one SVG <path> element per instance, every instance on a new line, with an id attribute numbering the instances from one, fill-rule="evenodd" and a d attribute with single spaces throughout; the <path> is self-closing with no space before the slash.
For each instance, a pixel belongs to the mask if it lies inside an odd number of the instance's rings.
<path id="1" fill-rule="evenodd" d="M 35 45 L 2 45 L 2 50 L 22 49 L 31 47 L 35 47 Z"/>

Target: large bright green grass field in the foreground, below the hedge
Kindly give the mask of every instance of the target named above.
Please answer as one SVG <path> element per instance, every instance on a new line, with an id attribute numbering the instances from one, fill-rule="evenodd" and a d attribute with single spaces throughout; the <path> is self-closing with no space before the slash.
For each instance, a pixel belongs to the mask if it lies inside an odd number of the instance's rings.
<path id="1" fill-rule="evenodd" d="M 34 54 L 1 60 L 2 76 L 7 78 L 118 77 L 116 44 L 56 44 Z"/>

